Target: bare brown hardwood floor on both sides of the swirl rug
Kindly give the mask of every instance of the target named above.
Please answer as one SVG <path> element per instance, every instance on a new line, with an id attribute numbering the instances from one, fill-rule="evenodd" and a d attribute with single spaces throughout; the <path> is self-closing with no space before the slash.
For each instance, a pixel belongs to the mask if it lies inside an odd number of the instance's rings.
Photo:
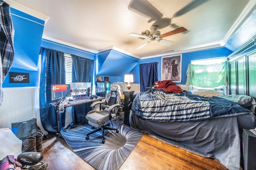
<path id="1" fill-rule="evenodd" d="M 107 140 L 107 139 L 106 139 Z M 65 140 L 51 134 L 43 140 L 49 170 L 94 170 Z M 119 170 L 227 170 L 218 161 L 204 158 L 144 134 Z"/>

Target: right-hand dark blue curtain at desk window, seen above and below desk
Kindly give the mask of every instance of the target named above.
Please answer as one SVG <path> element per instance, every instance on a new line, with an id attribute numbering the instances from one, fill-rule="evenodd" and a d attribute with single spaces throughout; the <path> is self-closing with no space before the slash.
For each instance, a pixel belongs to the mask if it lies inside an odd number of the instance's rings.
<path id="1" fill-rule="evenodd" d="M 93 77 L 94 60 L 71 55 L 72 57 L 72 82 L 91 82 Z M 92 88 L 92 87 L 91 87 Z M 82 125 L 88 120 L 87 113 L 92 110 L 92 103 L 84 103 L 74 106 L 74 126 Z"/>

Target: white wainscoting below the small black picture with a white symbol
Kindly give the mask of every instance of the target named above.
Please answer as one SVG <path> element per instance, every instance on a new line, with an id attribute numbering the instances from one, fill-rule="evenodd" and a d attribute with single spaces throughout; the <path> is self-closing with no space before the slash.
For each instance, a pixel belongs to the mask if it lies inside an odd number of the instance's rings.
<path id="1" fill-rule="evenodd" d="M 0 106 L 0 128 L 12 128 L 13 122 L 37 119 L 42 128 L 39 111 L 39 87 L 3 88 L 3 102 Z"/>

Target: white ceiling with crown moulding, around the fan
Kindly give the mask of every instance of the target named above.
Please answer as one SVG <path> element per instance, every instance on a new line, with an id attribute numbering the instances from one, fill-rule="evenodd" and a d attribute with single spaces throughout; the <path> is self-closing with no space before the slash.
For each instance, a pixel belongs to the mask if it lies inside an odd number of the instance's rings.
<path id="1" fill-rule="evenodd" d="M 161 34 L 174 30 L 174 24 L 188 31 L 168 36 L 174 41 L 165 46 L 156 41 L 142 49 L 136 49 L 148 42 L 130 33 L 141 34 L 149 30 L 153 22 L 128 9 L 130 0 L 6 0 L 12 8 L 30 13 L 40 13 L 48 18 L 43 38 L 97 52 L 116 47 L 135 57 L 164 54 L 174 49 L 188 51 L 204 47 L 225 45 L 241 26 L 255 6 L 255 0 L 148 0 L 162 13 L 162 18 L 171 18 L 171 24 L 160 29 Z M 141 1 L 144 4 L 143 1 Z M 17 5 L 18 3 L 18 5 Z M 136 2 L 135 2 L 136 3 Z M 137 5 L 137 4 L 136 4 Z M 138 6 L 146 9 L 144 6 Z M 178 16 L 180 14 L 180 16 Z M 45 18 L 44 18 L 45 19 Z"/>

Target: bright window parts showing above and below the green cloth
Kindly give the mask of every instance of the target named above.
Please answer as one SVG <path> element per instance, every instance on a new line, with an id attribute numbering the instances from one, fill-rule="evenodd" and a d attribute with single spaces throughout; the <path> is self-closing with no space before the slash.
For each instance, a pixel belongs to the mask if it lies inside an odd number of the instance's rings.
<path id="1" fill-rule="evenodd" d="M 210 65 L 210 64 L 217 64 L 222 63 L 225 61 L 225 57 L 216 57 L 216 58 L 210 58 L 210 59 L 198 59 L 198 60 L 191 60 L 191 64 L 195 65 Z M 212 88 L 204 88 L 204 87 L 196 87 L 190 85 L 190 91 L 193 93 L 194 91 L 201 91 L 201 90 L 216 90 L 225 93 L 226 86 L 221 85 L 217 87 Z"/>

